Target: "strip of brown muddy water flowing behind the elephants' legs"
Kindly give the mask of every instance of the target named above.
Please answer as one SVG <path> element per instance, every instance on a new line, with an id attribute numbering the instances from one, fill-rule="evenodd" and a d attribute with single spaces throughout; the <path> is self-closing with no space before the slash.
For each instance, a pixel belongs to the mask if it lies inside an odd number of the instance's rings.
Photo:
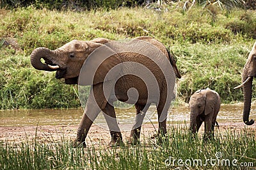
<path id="1" fill-rule="evenodd" d="M 134 122 L 134 107 L 130 109 L 116 109 L 116 117 L 119 124 Z M 250 119 L 256 119 L 256 105 L 252 105 Z M 236 123 L 242 122 L 243 105 L 221 105 L 218 114 L 218 122 Z M 78 125 L 83 116 L 83 109 L 31 109 L 0 111 L 0 126 L 28 126 L 28 125 Z M 175 106 L 168 114 L 170 123 L 189 123 L 188 106 Z M 97 124 L 104 124 L 103 114 L 95 120 Z M 148 109 L 145 116 L 146 123 L 157 123 L 156 107 Z M 106 124 L 106 123 L 105 123 Z"/>

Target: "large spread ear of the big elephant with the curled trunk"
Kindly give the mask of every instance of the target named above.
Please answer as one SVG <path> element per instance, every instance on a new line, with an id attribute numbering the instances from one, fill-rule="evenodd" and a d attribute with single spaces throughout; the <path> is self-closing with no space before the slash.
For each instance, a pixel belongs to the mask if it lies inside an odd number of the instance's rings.
<path id="1" fill-rule="evenodd" d="M 114 50 L 106 45 L 101 45 L 93 50 L 84 61 L 79 74 L 78 84 L 87 86 L 115 79 L 121 72 L 120 66 L 116 66 L 120 63 L 119 56 Z M 116 66 L 115 69 L 111 70 L 114 66 Z"/>

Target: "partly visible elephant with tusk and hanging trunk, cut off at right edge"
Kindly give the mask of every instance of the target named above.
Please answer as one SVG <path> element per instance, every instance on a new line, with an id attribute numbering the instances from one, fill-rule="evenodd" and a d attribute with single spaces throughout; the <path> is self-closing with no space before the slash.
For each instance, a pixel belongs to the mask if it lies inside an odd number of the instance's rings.
<path id="1" fill-rule="evenodd" d="M 252 103 L 252 81 L 256 76 L 256 42 L 254 43 L 252 50 L 244 65 L 242 74 L 242 84 L 236 88 L 243 87 L 244 95 L 244 109 L 243 109 L 243 121 L 246 125 L 253 125 L 254 120 L 249 121 L 249 115 Z M 234 88 L 234 89 L 236 89 Z"/>

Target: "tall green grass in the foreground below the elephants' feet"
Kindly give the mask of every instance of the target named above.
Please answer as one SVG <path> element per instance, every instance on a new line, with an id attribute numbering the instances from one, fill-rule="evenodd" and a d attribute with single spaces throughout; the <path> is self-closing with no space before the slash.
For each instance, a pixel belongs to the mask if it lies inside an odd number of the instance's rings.
<path id="1" fill-rule="evenodd" d="M 216 133 L 214 141 L 205 143 L 201 136 L 191 138 L 183 125 L 170 127 L 163 144 L 144 138 L 142 144 L 108 148 L 72 148 L 65 136 L 60 141 L 0 143 L 1 169 L 243 169 L 241 163 L 255 167 L 255 132 L 246 128 Z M 216 153 L 220 163 L 216 160 Z M 193 166 L 193 160 L 202 160 L 202 166 Z M 209 159 L 209 162 L 206 162 Z M 237 160 L 232 166 L 232 160 Z M 178 160 L 184 166 L 180 167 Z M 210 162 L 212 160 L 212 162 Z M 227 160 L 230 166 L 221 161 Z M 191 163 L 189 163 L 191 162 Z M 189 166 L 191 164 L 191 166 Z M 204 165 L 205 164 L 205 165 Z M 216 164 L 214 166 L 214 164 Z M 166 166 L 167 165 L 167 166 Z M 196 162 L 195 162 L 196 165 Z M 223 166 L 222 166 L 223 165 Z M 227 163 L 228 165 L 228 163 Z M 250 167 L 249 167 L 250 169 Z"/>

